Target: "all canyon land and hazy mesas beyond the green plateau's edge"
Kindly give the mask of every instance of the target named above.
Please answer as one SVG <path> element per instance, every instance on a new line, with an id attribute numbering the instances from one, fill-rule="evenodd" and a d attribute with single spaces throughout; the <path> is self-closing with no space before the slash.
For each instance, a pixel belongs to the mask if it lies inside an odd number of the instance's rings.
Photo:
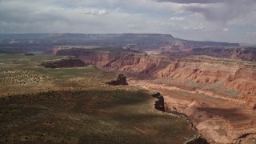
<path id="1" fill-rule="evenodd" d="M 255 46 L 171 34 L 0 34 L 0 54 L 54 55 L 61 59 L 38 67 L 125 74 L 129 85 L 160 92 L 160 110 L 187 118 L 207 142 L 256 141 Z"/>

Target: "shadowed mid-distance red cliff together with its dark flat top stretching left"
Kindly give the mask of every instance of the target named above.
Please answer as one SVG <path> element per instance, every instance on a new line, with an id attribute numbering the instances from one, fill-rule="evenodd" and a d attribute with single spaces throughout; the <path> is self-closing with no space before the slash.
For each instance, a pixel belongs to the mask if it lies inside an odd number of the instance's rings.
<path id="1" fill-rule="evenodd" d="M 70 55 L 83 62 L 106 70 L 126 71 L 130 73 L 154 74 L 166 67 L 170 58 L 150 56 L 134 50 L 58 50 L 57 55 Z"/>

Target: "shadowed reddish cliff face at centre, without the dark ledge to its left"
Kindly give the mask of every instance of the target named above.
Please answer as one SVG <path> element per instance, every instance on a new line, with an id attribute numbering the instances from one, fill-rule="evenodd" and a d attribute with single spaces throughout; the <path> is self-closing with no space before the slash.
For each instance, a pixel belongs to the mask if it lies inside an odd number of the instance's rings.
<path id="1" fill-rule="evenodd" d="M 102 69 L 142 74 L 154 74 L 157 70 L 162 69 L 168 64 L 164 58 L 151 58 L 145 54 L 133 53 L 101 52 L 97 54 L 83 54 L 78 56 L 78 58 Z"/>

